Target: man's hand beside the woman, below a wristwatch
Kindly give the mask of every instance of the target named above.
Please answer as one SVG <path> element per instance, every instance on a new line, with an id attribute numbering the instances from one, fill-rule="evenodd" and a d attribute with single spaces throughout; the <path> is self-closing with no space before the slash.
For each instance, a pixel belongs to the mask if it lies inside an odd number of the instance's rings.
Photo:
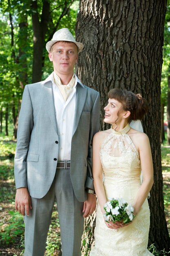
<path id="1" fill-rule="evenodd" d="M 96 195 L 87 193 L 87 200 L 84 202 L 83 210 L 84 213 L 83 217 L 87 218 L 90 216 L 93 211 L 96 209 Z"/>

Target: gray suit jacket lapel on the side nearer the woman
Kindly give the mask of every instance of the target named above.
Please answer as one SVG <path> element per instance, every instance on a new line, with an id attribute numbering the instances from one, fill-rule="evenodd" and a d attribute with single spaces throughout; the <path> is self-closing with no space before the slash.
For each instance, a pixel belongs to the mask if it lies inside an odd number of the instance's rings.
<path id="1" fill-rule="evenodd" d="M 77 83 L 76 90 L 76 102 L 75 102 L 75 117 L 74 117 L 74 125 L 73 125 L 73 135 L 77 129 L 80 116 L 82 114 L 82 110 L 84 107 L 84 103 L 86 101 L 87 88 L 82 87 L 79 83 Z M 72 137 L 73 137 L 72 135 Z"/>

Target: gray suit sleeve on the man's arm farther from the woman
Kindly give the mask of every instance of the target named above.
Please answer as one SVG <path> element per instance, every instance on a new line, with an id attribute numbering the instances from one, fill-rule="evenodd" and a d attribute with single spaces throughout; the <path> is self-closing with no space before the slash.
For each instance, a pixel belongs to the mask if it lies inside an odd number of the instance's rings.
<path id="1" fill-rule="evenodd" d="M 17 146 L 14 159 L 14 175 L 16 189 L 27 187 L 26 157 L 29 150 L 29 141 L 33 129 L 33 106 L 28 85 L 25 86 L 21 110 L 18 120 Z"/>

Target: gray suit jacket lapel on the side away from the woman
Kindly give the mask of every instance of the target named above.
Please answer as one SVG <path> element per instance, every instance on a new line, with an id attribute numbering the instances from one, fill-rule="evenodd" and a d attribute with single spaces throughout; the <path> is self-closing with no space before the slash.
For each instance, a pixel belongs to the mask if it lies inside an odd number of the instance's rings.
<path id="1" fill-rule="evenodd" d="M 47 81 L 46 83 L 44 83 L 44 106 L 46 108 L 46 111 L 48 112 L 51 123 L 53 124 L 54 129 L 57 132 L 54 96 L 53 96 L 53 88 L 52 88 L 51 81 Z"/>

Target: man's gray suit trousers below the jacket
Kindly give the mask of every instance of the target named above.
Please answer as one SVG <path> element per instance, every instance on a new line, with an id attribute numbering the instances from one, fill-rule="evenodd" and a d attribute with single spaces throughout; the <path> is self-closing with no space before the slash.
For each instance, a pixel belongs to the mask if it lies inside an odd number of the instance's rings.
<path id="1" fill-rule="evenodd" d="M 83 202 L 79 202 L 75 197 L 70 169 L 57 169 L 48 193 L 40 199 L 31 198 L 33 209 L 30 210 L 30 216 L 24 216 L 24 256 L 44 255 L 55 198 L 61 230 L 62 256 L 81 256 Z"/>

